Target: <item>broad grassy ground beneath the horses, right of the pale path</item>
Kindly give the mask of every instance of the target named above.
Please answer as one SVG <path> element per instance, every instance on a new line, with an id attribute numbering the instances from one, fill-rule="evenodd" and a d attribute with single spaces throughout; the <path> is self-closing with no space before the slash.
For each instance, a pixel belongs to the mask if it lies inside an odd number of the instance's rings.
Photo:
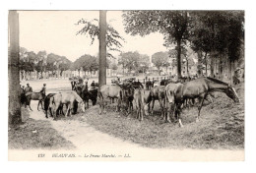
<path id="1" fill-rule="evenodd" d="M 157 148 L 244 148 L 244 85 L 236 87 L 241 99 L 239 105 L 233 103 L 224 93 L 216 93 L 214 103 L 205 105 L 200 122 L 196 123 L 197 107 L 182 112 L 184 128 L 177 124 L 164 123 L 160 119 L 159 104 L 153 116 L 143 122 L 135 119 L 135 111 L 129 117 L 114 112 L 114 106 L 107 113 L 98 115 L 98 107 L 86 112 L 87 123 L 96 130 L 124 141 Z M 157 101 L 158 102 L 158 101 Z"/>

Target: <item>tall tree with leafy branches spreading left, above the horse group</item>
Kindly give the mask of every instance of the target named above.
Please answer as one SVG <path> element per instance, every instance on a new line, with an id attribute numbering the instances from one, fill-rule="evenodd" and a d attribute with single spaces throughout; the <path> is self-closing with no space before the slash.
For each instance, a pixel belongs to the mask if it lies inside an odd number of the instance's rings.
<path id="1" fill-rule="evenodd" d="M 177 75 L 181 77 L 181 45 L 188 38 L 189 18 L 186 11 L 124 11 L 125 31 L 142 36 L 160 31 L 164 45 L 176 43 Z"/>

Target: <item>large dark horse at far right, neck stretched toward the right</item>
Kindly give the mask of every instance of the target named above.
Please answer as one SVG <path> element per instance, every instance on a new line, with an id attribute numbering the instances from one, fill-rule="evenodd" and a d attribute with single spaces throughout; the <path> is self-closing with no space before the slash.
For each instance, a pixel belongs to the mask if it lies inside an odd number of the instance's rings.
<path id="1" fill-rule="evenodd" d="M 181 104 L 184 102 L 184 100 L 188 98 L 200 98 L 200 104 L 198 107 L 198 115 L 196 120 L 199 121 L 200 111 L 203 106 L 204 100 L 209 93 L 214 91 L 224 92 L 234 102 L 240 101 L 233 87 L 214 78 L 199 78 L 176 87 L 174 91 L 174 102 L 176 105 L 175 114 L 178 118 L 180 127 L 183 127 L 180 120 L 180 112 Z"/>

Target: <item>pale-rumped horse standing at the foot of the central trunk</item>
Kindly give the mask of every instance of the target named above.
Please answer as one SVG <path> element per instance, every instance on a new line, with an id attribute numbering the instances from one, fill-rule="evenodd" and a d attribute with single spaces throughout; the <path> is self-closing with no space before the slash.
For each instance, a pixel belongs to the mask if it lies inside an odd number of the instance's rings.
<path id="1" fill-rule="evenodd" d="M 109 97 L 117 98 L 117 106 L 116 112 L 120 110 L 121 100 L 122 100 L 122 88 L 120 86 L 110 86 L 110 85 L 103 85 L 98 88 L 97 91 L 98 103 L 99 103 L 99 115 L 105 111 L 105 106 L 107 105 L 106 98 Z"/>

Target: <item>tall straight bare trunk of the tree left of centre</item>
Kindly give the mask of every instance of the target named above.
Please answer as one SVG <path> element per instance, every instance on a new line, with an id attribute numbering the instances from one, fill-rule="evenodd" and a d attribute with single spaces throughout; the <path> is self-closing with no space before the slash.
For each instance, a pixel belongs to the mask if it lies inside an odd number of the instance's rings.
<path id="1" fill-rule="evenodd" d="M 106 84 L 106 11 L 99 11 L 99 75 L 98 85 Z"/>

